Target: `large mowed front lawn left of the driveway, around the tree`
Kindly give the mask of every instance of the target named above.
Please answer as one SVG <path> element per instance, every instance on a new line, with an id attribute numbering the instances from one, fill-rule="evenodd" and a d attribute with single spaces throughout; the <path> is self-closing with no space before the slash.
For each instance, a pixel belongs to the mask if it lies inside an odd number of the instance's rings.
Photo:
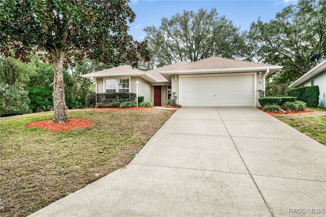
<path id="1" fill-rule="evenodd" d="M 26 216 L 127 165 L 173 110 L 71 110 L 95 125 L 53 132 L 26 124 L 53 113 L 1 122 L 1 216 Z"/>

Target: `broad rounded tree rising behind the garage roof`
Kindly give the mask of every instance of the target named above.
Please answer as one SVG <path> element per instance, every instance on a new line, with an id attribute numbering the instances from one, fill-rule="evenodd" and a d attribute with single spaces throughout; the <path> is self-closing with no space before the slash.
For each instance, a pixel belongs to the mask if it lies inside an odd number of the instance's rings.
<path id="1" fill-rule="evenodd" d="M 151 49 L 152 61 L 147 68 L 180 61 L 198 61 L 211 56 L 247 57 L 244 35 L 216 9 L 183 11 L 170 19 L 163 17 L 161 25 L 146 26 L 145 39 Z"/>

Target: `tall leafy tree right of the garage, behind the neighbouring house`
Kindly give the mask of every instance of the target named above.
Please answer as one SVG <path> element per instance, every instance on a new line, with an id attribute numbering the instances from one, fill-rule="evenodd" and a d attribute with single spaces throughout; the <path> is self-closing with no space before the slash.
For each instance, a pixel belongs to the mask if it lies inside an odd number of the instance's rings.
<path id="1" fill-rule="evenodd" d="M 251 24 L 248 38 L 253 55 L 264 63 L 283 65 L 271 76 L 267 90 L 285 94 L 288 85 L 308 72 L 314 63 L 310 57 L 326 54 L 326 1 L 298 1 L 264 23 Z"/>

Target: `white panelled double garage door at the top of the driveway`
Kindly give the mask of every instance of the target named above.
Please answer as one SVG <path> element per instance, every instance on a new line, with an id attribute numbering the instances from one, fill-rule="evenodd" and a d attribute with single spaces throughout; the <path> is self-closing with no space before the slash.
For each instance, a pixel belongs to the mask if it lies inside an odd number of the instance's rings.
<path id="1" fill-rule="evenodd" d="M 254 106 L 254 75 L 180 77 L 182 106 Z"/>

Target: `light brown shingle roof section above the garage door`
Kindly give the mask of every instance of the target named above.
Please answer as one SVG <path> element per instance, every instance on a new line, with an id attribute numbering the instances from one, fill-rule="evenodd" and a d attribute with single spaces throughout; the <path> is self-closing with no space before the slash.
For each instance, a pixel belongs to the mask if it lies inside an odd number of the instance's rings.
<path id="1" fill-rule="evenodd" d="M 182 62 L 181 62 L 182 63 Z M 249 68 L 249 67 L 268 67 L 275 66 L 262 63 L 253 63 L 249 61 L 233 60 L 221 57 L 209 57 L 203 60 L 183 64 L 171 69 L 159 68 L 159 71 L 174 71 L 174 70 L 203 70 L 203 69 L 229 69 L 229 68 Z M 173 65 L 172 65 L 173 66 Z"/>

